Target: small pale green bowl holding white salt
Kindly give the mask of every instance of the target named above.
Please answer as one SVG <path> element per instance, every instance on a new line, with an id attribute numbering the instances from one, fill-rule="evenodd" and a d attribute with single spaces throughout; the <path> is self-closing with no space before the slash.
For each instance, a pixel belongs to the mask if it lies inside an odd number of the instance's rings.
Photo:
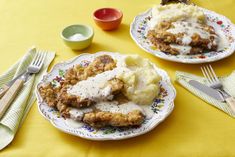
<path id="1" fill-rule="evenodd" d="M 80 24 L 65 27 L 61 32 L 64 43 L 73 50 L 87 48 L 91 44 L 93 36 L 92 27 Z"/>

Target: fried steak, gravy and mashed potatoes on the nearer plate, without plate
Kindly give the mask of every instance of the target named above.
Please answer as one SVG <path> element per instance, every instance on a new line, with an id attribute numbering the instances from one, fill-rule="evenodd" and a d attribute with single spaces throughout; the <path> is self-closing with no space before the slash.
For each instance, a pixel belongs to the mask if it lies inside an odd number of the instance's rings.
<path id="1" fill-rule="evenodd" d="M 141 105 L 153 102 L 160 79 L 146 59 L 128 56 L 114 60 L 101 55 L 86 67 L 69 68 L 60 86 L 48 83 L 39 87 L 39 93 L 65 118 L 93 127 L 136 126 L 145 118 Z"/>

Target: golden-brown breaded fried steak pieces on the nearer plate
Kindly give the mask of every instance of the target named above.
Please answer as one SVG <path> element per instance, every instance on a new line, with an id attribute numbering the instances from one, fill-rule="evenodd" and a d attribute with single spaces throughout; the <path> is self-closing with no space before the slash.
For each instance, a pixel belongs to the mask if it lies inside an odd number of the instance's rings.
<path id="1" fill-rule="evenodd" d="M 100 88 L 104 90 L 105 99 L 103 95 L 98 94 L 98 98 L 95 97 L 83 97 L 72 93 L 71 90 L 75 88 L 75 92 L 82 92 L 82 94 L 88 92 L 89 81 L 95 80 L 97 83 L 97 77 L 105 75 L 116 68 L 116 62 L 108 55 L 99 56 L 94 59 L 87 67 L 81 67 L 80 65 L 74 66 L 65 74 L 64 81 L 61 82 L 60 87 L 53 87 L 53 85 L 47 84 L 39 88 L 40 94 L 45 102 L 50 106 L 56 108 L 63 117 L 71 118 L 73 120 L 85 122 L 94 127 L 102 127 L 106 125 L 110 126 L 135 126 L 140 125 L 144 120 L 144 114 L 135 106 L 134 109 L 129 110 L 126 113 L 121 112 L 109 112 L 109 102 L 115 99 L 116 108 L 122 103 L 127 103 L 126 98 L 122 98 L 121 90 L 124 88 L 124 83 L 114 77 L 106 80 L 106 83 Z M 115 71 L 114 71 L 115 73 Z M 85 84 L 88 81 L 88 84 Z M 99 82 L 97 83 L 99 84 Z M 85 85 L 85 86 L 83 86 Z M 77 88 L 77 87 L 79 88 Z M 108 90 L 106 90 L 108 89 Z M 98 91 L 94 88 L 95 92 Z M 107 94 L 108 91 L 108 94 Z M 89 94 L 89 93 L 87 93 Z M 94 94 L 96 95 L 96 94 Z M 122 96 L 120 96 L 122 95 Z M 106 107 L 108 110 L 104 111 L 97 108 L 96 99 L 104 100 L 108 102 Z M 125 100 L 124 100 L 125 99 Z M 125 105 L 124 105 L 125 106 Z M 115 108 L 114 107 L 114 108 Z M 125 109 L 124 109 L 125 110 Z"/>

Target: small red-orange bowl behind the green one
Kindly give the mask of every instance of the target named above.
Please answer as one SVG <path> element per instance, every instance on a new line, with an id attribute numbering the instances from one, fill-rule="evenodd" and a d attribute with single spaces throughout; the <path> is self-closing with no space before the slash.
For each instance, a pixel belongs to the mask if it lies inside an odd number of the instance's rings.
<path id="1" fill-rule="evenodd" d="M 93 13 L 95 23 L 103 30 L 118 28 L 122 21 L 122 11 L 115 8 L 101 8 Z"/>

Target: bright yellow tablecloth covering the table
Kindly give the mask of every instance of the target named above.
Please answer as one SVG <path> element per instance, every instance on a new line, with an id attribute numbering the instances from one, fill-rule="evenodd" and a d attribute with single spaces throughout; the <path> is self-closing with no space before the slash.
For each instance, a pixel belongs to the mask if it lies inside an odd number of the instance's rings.
<path id="1" fill-rule="evenodd" d="M 129 35 L 134 17 L 159 0 L 0 0 L 0 73 L 15 63 L 32 45 L 56 51 L 58 63 L 84 52 L 108 50 L 139 54 L 165 69 L 177 90 L 172 114 L 151 132 L 121 141 L 89 141 L 65 134 L 43 118 L 34 103 L 14 141 L 0 156 L 235 156 L 235 119 L 203 102 L 175 83 L 175 71 L 200 75 L 200 65 L 173 63 L 141 50 Z M 234 0 L 194 0 L 195 4 L 223 14 L 235 22 Z M 119 8 L 124 13 L 120 28 L 99 29 L 92 12 L 100 7 Z M 93 44 L 72 51 L 60 31 L 71 24 L 94 28 Z M 235 69 L 235 55 L 212 63 L 219 75 Z M 1 140 L 1 139 L 0 139 Z"/>

